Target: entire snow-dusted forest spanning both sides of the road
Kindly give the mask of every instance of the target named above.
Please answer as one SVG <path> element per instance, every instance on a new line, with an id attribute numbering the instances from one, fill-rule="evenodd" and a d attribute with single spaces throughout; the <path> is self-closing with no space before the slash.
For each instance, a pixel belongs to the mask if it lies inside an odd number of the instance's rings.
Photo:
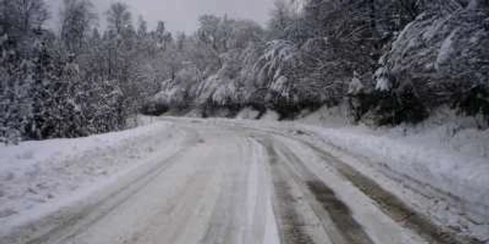
<path id="1" fill-rule="evenodd" d="M 277 0 L 267 26 L 202 15 L 195 33 L 149 30 L 124 2 L 64 0 L 59 31 L 52 14 L 45 0 L 0 0 L 0 142 L 245 107 L 291 120 L 344 105 L 380 126 L 446 105 L 489 126 L 488 0 Z"/>

